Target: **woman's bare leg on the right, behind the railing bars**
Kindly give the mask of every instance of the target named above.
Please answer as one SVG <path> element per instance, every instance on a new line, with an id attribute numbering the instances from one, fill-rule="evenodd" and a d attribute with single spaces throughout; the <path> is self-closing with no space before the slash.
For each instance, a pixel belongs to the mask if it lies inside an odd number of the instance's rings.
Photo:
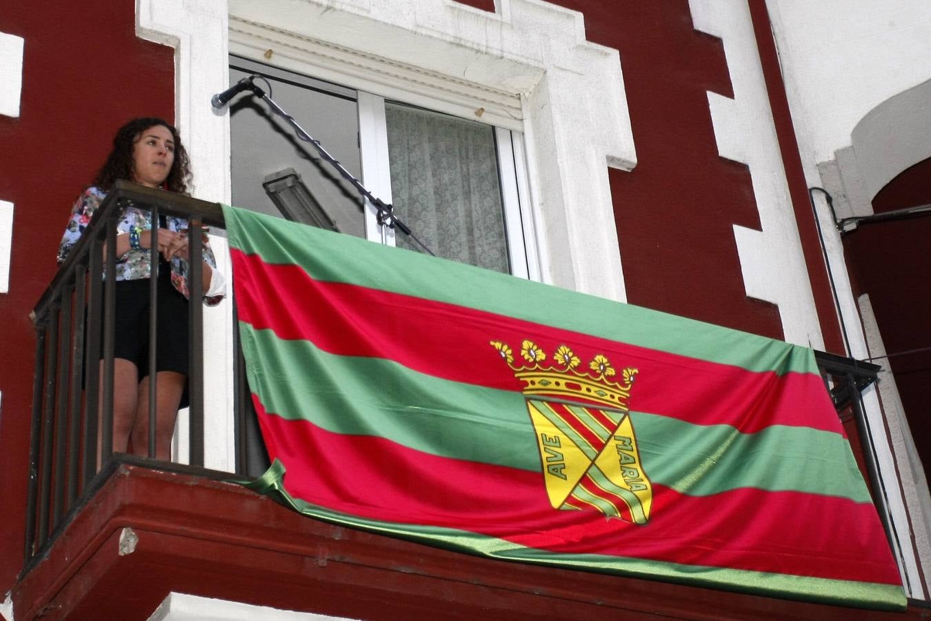
<path id="1" fill-rule="evenodd" d="M 158 371 L 155 385 L 155 459 L 169 461 L 171 436 L 174 434 L 178 406 L 187 377 L 174 371 Z M 136 399 L 136 422 L 132 427 L 132 452 L 149 454 L 149 378 L 139 383 Z"/>

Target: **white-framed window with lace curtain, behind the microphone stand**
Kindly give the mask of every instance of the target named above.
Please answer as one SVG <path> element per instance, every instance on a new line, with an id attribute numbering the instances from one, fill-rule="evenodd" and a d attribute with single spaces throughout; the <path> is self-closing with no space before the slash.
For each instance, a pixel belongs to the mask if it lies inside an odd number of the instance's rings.
<path id="1" fill-rule="evenodd" d="M 272 98 L 435 254 L 538 277 L 519 132 L 231 57 L 231 83 L 248 74 L 263 75 Z M 235 205 L 279 214 L 263 182 L 294 169 L 341 232 L 421 250 L 380 226 L 352 184 L 263 101 L 237 99 L 230 114 Z"/>

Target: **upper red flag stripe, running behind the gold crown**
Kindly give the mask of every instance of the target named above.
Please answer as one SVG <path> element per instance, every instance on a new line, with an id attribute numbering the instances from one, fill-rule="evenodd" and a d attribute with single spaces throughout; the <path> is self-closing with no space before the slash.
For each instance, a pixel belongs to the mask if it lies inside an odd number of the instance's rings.
<path id="1" fill-rule="evenodd" d="M 435 377 L 518 391 L 519 381 L 489 341 L 510 344 L 518 356 L 523 339 L 550 352 L 568 344 L 579 358 L 601 354 L 615 368 L 641 369 L 630 398 L 635 411 L 733 425 L 745 433 L 795 425 L 843 435 L 836 416 L 811 415 L 833 411 L 821 378 L 812 373 L 746 371 L 455 304 L 321 282 L 298 265 L 266 264 L 236 249 L 231 255 L 240 320 L 332 354 L 387 358 Z"/>

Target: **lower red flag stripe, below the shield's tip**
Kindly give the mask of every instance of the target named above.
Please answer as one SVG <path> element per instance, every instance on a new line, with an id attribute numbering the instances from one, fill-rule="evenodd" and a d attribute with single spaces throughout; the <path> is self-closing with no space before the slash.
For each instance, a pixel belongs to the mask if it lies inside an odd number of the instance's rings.
<path id="1" fill-rule="evenodd" d="M 567 554 L 900 584 L 875 509 L 834 496 L 742 488 L 707 497 L 654 485 L 646 525 L 549 505 L 543 475 L 344 436 L 263 412 L 269 455 L 305 501 L 385 522 L 437 526 Z M 412 493 L 416 490 L 416 493 Z M 843 528 L 839 525 L 843 524 Z"/>

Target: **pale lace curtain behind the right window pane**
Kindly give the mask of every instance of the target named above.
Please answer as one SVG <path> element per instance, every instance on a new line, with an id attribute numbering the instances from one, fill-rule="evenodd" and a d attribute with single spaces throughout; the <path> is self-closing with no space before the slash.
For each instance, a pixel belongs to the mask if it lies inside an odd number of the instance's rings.
<path id="1" fill-rule="evenodd" d="M 437 256 L 509 272 L 493 128 L 388 102 L 385 118 L 398 217 Z"/>

